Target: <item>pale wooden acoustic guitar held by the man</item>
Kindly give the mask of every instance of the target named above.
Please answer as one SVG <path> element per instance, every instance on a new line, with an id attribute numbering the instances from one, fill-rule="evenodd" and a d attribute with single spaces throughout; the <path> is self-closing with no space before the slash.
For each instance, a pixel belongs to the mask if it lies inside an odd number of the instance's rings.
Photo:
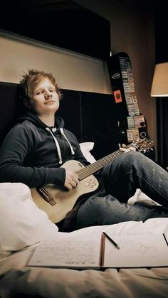
<path id="1" fill-rule="evenodd" d="M 135 142 L 127 145 L 125 148 L 135 147 L 137 151 L 147 151 L 152 148 L 153 142 L 148 139 L 137 139 Z M 88 166 L 83 166 L 79 161 L 70 160 L 63 164 L 64 169 L 73 169 L 79 176 L 80 183 L 77 187 L 73 188 L 71 191 L 63 191 L 56 188 L 54 184 L 47 184 L 38 188 L 31 188 L 31 195 L 33 201 L 36 203 L 38 208 L 45 211 L 48 218 L 53 223 L 58 223 L 65 218 L 65 215 L 72 210 L 75 202 L 84 193 L 91 193 L 95 191 L 98 186 L 98 180 L 93 176 L 93 174 L 103 169 L 103 167 L 110 163 L 113 159 L 120 154 L 125 152 L 120 149 L 112 152 L 102 159 L 95 161 L 93 164 Z"/>

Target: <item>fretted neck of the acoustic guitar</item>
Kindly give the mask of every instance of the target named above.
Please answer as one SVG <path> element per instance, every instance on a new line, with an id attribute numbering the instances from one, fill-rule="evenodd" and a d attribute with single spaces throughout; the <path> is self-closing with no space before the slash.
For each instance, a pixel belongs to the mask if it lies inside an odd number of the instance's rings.
<path id="1" fill-rule="evenodd" d="M 135 144 L 129 144 L 125 148 L 130 148 L 130 147 L 136 147 Z M 85 168 L 80 169 L 77 174 L 79 176 L 79 180 L 83 180 L 86 177 L 90 176 L 91 174 L 95 173 L 96 171 L 103 169 L 104 166 L 110 163 L 113 159 L 115 159 L 117 156 L 120 156 L 124 152 L 121 151 L 120 149 L 112 152 L 111 154 L 103 157 L 102 159 L 99 159 L 98 161 L 95 161 L 93 164 L 89 164 L 88 166 L 85 166 Z"/>

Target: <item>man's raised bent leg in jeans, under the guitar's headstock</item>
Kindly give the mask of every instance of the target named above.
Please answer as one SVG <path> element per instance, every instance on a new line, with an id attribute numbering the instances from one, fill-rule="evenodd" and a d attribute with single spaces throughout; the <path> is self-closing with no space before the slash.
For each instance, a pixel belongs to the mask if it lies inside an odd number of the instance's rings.
<path id="1" fill-rule="evenodd" d="M 137 188 L 154 201 L 168 206 L 168 173 L 142 153 L 130 151 L 103 169 L 106 193 L 127 202 Z"/>

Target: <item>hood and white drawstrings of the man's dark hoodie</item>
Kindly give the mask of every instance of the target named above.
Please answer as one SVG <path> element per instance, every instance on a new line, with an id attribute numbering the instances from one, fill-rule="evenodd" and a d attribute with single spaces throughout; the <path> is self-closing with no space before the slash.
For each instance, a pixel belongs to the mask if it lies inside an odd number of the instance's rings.
<path id="1" fill-rule="evenodd" d="M 61 117 L 55 117 L 54 127 L 48 127 L 33 112 L 28 112 L 28 113 L 26 113 L 26 115 L 23 115 L 22 117 L 19 117 L 17 119 L 17 122 L 21 123 L 21 122 L 24 122 L 26 120 L 33 123 L 36 127 L 41 127 L 43 129 L 45 129 L 49 134 L 51 134 L 51 136 L 53 137 L 53 142 L 55 142 L 55 144 L 56 144 L 56 150 L 58 152 L 59 164 L 62 164 L 63 160 L 62 160 L 62 155 L 61 155 L 61 148 L 60 148 L 60 145 L 58 143 L 58 140 L 56 139 L 56 134 L 60 134 L 61 137 L 63 137 L 66 140 L 66 142 L 68 143 L 68 145 L 70 147 L 71 154 L 73 154 L 73 155 L 75 154 L 75 152 L 73 151 L 72 145 L 70 144 L 68 138 L 65 136 L 65 133 L 63 131 L 64 121 Z"/>

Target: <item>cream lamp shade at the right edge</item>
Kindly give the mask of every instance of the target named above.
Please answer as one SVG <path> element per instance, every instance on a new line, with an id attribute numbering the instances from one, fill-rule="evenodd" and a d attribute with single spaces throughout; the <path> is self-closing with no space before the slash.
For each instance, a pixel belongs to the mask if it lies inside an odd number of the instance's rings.
<path id="1" fill-rule="evenodd" d="M 168 62 L 155 66 L 151 96 L 168 97 Z"/>

